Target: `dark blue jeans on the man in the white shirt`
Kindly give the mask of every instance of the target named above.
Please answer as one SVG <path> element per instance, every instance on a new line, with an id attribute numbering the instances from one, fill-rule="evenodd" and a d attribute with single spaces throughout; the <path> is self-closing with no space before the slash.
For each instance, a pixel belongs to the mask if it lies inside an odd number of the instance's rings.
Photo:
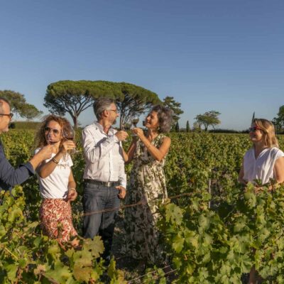
<path id="1" fill-rule="evenodd" d="M 114 211 L 101 212 L 84 216 L 83 234 L 85 239 L 102 236 L 104 242 L 104 258 L 109 258 L 111 253 L 112 237 L 114 235 L 114 222 L 119 212 L 119 190 L 115 187 L 94 185 L 84 182 L 83 208 L 84 213 L 97 212 L 104 209 L 116 208 Z"/>

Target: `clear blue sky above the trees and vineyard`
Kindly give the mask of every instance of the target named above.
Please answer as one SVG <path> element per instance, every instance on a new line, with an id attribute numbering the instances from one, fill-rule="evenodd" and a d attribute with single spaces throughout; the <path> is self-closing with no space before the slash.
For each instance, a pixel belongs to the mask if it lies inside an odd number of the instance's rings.
<path id="1" fill-rule="evenodd" d="M 246 129 L 284 104 L 284 1 L 0 1 L 0 89 L 38 109 L 58 80 L 130 82 Z M 93 121 L 92 109 L 80 116 Z"/>

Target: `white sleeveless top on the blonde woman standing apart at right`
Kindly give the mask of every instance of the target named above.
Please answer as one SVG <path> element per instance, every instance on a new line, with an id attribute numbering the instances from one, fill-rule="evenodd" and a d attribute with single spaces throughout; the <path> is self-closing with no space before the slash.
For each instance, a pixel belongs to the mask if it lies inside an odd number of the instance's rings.
<path id="1" fill-rule="evenodd" d="M 284 153 L 276 147 L 263 149 L 258 158 L 254 148 L 249 149 L 244 155 L 244 180 L 253 182 L 258 179 L 263 184 L 269 182 L 270 178 L 274 178 L 273 168 L 280 157 L 284 157 Z"/>

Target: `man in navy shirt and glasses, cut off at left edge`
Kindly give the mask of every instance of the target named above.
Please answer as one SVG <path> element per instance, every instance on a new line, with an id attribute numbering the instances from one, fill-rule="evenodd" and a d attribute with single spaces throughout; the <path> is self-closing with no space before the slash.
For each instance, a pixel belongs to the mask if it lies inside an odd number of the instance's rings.
<path id="1" fill-rule="evenodd" d="M 11 114 L 9 102 L 0 97 L 0 135 L 9 131 L 9 123 L 13 114 Z M 31 158 L 28 163 L 20 165 L 18 168 L 13 168 L 6 159 L 4 148 L 0 139 L 0 189 L 10 190 L 11 187 L 19 185 L 27 180 L 35 173 L 35 168 L 45 159 L 51 157 L 53 146 L 45 146 L 41 151 Z"/>

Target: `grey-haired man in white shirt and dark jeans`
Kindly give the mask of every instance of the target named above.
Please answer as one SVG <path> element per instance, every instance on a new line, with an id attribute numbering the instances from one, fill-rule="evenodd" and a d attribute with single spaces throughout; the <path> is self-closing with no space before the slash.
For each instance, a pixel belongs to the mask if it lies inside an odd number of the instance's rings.
<path id="1" fill-rule="evenodd" d="M 126 195 L 126 174 L 121 141 L 128 134 L 111 128 L 119 116 L 113 99 L 99 98 L 94 103 L 97 122 L 82 132 L 84 148 L 84 238 L 99 234 L 104 241 L 104 259 L 110 259 L 114 222 L 120 199 Z M 114 211 L 101 212 L 117 208 Z"/>

